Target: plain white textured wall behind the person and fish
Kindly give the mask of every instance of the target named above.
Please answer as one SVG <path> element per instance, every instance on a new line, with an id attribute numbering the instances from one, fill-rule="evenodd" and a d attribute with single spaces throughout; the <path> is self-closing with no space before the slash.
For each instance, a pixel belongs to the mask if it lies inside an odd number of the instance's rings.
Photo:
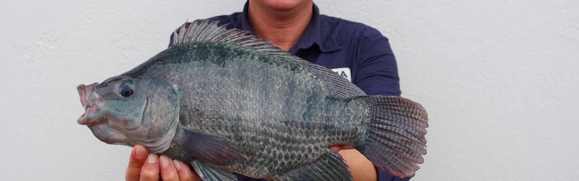
<path id="1" fill-rule="evenodd" d="M 75 86 L 137 66 L 187 19 L 244 4 L 216 2 L 2 2 L 2 180 L 122 180 L 130 148 L 76 124 Z M 413 180 L 579 178 L 578 1 L 315 2 L 390 38 L 402 95 L 430 117 Z"/>

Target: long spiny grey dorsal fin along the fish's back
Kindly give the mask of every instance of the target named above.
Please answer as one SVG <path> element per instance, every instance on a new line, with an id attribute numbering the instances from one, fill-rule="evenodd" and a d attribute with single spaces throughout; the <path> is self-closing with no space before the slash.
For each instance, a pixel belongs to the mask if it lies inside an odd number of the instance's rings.
<path id="1" fill-rule="evenodd" d="M 346 78 L 336 74 L 323 66 L 310 63 L 291 53 L 277 48 L 270 42 L 267 42 L 254 35 L 247 35 L 249 31 L 241 31 L 237 29 L 225 30 L 228 24 L 217 26 L 219 21 L 199 20 L 193 21 L 189 27 L 183 24 L 181 28 L 173 32 L 173 46 L 186 44 L 189 42 L 221 42 L 229 45 L 241 46 L 243 48 L 261 52 L 264 55 L 277 57 L 281 61 L 305 68 L 310 73 L 314 74 L 316 78 L 320 78 L 324 83 L 324 88 L 328 92 L 329 97 L 338 99 L 345 99 L 353 96 L 366 95 L 364 91 L 356 85 L 351 84 Z"/>

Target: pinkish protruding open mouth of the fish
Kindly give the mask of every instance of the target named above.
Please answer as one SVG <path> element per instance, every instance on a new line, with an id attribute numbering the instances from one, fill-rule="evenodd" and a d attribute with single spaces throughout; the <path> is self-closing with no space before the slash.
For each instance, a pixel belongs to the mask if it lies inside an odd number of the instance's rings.
<path id="1" fill-rule="evenodd" d="M 94 114 L 97 112 L 98 103 L 102 103 L 102 99 L 96 92 L 94 92 L 94 86 L 98 85 L 94 82 L 90 85 L 80 84 L 76 86 L 78 95 L 80 97 L 80 104 L 85 108 L 85 113 L 80 115 L 76 122 L 80 125 L 97 125 L 101 124 L 103 121 L 94 118 Z"/>

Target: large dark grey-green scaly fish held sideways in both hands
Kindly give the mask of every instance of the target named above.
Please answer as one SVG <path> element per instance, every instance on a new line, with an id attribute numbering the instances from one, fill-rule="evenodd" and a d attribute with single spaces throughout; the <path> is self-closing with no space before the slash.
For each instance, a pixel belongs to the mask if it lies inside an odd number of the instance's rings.
<path id="1" fill-rule="evenodd" d="M 328 149 L 360 151 L 413 176 L 428 116 L 398 96 L 366 95 L 328 68 L 218 21 L 177 28 L 173 46 L 126 73 L 77 86 L 78 118 L 108 144 L 145 146 L 208 181 L 353 180 Z"/>

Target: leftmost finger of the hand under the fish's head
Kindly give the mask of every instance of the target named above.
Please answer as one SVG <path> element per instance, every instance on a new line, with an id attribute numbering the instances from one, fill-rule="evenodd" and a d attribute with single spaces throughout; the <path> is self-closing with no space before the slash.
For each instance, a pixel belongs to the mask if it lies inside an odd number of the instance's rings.
<path id="1" fill-rule="evenodd" d="M 139 180 L 141 175 L 141 167 L 145 163 L 147 153 L 148 150 L 140 144 L 137 144 L 133 147 L 133 151 L 131 151 L 131 155 L 129 157 L 129 165 L 124 171 L 124 178 L 127 181 Z"/>

